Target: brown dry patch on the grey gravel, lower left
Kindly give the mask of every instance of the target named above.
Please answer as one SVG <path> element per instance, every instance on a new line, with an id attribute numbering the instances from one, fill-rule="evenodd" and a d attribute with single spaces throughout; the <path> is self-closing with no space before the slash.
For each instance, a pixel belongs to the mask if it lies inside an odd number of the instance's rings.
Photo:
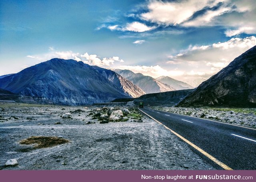
<path id="1" fill-rule="evenodd" d="M 34 148 L 40 149 L 40 148 L 53 147 L 53 146 L 68 143 L 68 142 L 70 141 L 67 139 L 58 138 L 58 137 L 32 136 L 27 139 L 21 140 L 20 144 L 25 144 L 25 145 L 34 144 Z"/>

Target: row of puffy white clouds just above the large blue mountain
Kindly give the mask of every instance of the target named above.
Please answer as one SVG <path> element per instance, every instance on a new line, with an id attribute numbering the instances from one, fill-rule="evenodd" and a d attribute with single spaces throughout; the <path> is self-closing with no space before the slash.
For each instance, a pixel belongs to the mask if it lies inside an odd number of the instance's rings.
<path id="1" fill-rule="evenodd" d="M 88 53 L 80 54 L 80 53 L 74 53 L 73 51 L 55 51 L 51 53 L 47 53 L 44 55 L 36 55 L 36 56 L 30 56 L 27 57 L 37 59 L 38 61 L 46 61 L 52 58 L 61 58 L 61 59 L 74 59 L 76 61 L 82 61 L 89 65 L 96 65 L 96 66 L 110 66 L 113 65 L 115 61 L 118 61 L 120 63 L 124 62 L 123 59 L 120 59 L 118 56 L 113 56 L 110 58 L 104 57 L 103 59 L 100 59 L 97 55 L 89 55 Z"/>

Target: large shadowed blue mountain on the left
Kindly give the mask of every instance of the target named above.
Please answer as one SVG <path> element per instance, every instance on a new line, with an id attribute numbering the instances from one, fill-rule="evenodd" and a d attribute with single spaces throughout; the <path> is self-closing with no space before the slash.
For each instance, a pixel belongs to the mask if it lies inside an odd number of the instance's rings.
<path id="1" fill-rule="evenodd" d="M 113 84 L 97 69 L 82 61 L 55 58 L 1 78 L 0 88 L 19 95 L 39 96 L 55 104 L 76 106 L 141 94 L 140 90 L 138 93 L 132 90 L 137 87 L 131 82 L 120 86 L 122 83 L 123 80 L 120 84 Z M 124 89 L 129 86 L 131 94 Z"/>

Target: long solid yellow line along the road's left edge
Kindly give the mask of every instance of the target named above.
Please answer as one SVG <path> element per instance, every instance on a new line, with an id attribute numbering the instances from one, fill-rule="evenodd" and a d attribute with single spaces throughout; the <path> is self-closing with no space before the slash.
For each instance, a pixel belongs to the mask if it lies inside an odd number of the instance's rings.
<path id="1" fill-rule="evenodd" d="M 140 110 L 140 108 L 138 108 Z M 143 112 L 142 110 L 140 110 L 141 112 Z M 146 114 L 145 112 L 143 112 L 144 114 Z M 146 114 L 148 115 L 148 114 Z M 162 124 L 160 121 L 154 119 L 154 117 L 148 115 L 148 117 L 151 117 L 153 120 L 155 120 L 156 122 L 158 122 L 160 125 L 163 125 L 166 129 L 170 130 L 174 135 L 176 135 L 177 137 L 179 137 L 180 139 L 182 139 L 183 141 L 185 141 L 186 143 L 188 143 L 190 146 L 192 146 L 194 149 L 196 149 L 197 151 L 199 151 L 200 153 L 202 153 L 203 155 L 205 155 L 206 157 L 208 157 L 210 160 L 212 160 L 213 162 L 215 162 L 216 164 L 218 164 L 219 166 L 221 166 L 222 168 L 224 168 L 225 170 L 233 170 L 232 168 L 228 167 L 226 164 L 224 164 L 223 162 L 220 162 L 220 160 L 216 159 L 215 157 L 213 157 L 212 155 L 208 154 L 206 151 L 204 151 L 203 149 L 201 149 L 200 147 L 197 147 L 194 143 L 191 143 L 190 141 L 188 141 L 187 139 L 185 139 L 184 137 L 182 137 L 181 135 L 179 135 L 178 133 L 176 133 L 175 131 L 173 131 L 172 129 L 168 128 L 166 125 Z"/>

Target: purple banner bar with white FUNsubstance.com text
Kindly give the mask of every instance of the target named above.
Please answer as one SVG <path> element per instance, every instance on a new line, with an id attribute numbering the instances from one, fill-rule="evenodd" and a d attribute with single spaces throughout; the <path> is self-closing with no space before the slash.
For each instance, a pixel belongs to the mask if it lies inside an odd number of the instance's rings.
<path id="1" fill-rule="evenodd" d="M 2 182 L 255 182 L 256 170 L 1 170 Z"/>

